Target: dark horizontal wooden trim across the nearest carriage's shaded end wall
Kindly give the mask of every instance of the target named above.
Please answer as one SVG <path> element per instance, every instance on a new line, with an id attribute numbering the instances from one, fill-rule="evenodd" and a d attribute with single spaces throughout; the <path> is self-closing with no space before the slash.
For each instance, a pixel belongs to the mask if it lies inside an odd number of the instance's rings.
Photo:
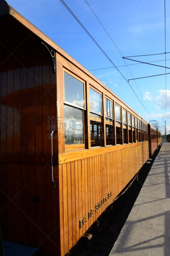
<path id="1" fill-rule="evenodd" d="M 53 155 L 53 164 L 58 164 L 58 155 Z M 51 164 L 51 154 L 0 154 L 0 163 Z"/>

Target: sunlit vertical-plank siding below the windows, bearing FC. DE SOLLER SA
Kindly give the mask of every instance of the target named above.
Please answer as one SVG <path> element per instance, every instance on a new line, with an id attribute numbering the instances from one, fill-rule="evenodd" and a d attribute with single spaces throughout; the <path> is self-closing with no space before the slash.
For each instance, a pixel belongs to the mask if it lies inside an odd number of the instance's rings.
<path id="1" fill-rule="evenodd" d="M 60 173 L 59 186 L 63 186 L 63 190 L 60 189 L 60 201 L 63 202 L 63 204 L 60 204 L 60 223 L 63 222 L 64 213 L 64 225 L 62 225 L 62 228 L 65 233 L 64 240 L 63 242 L 61 241 L 61 248 L 64 248 L 64 255 L 71 247 L 70 243 L 74 245 L 79 240 L 147 161 L 149 154 L 148 142 L 133 145 L 131 148 L 81 159 L 78 160 L 78 163 L 75 160 L 68 164 L 59 165 L 60 168 L 62 166 L 63 170 Z M 73 175 L 73 177 L 70 177 L 70 164 L 71 176 Z M 79 180 L 78 184 L 77 180 Z M 79 189 L 76 188 L 77 186 L 79 186 Z M 77 193 L 77 191 L 79 192 Z M 110 191 L 112 192 L 112 196 L 108 198 Z M 96 212 L 95 206 L 98 202 L 101 202 L 104 196 L 107 196 L 107 202 Z M 75 203 L 73 200 L 73 205 L 70 206 L 71 198 L 75 197 Z M 76 204 L 76 207 L 74 204 Z M 70 212 L 70 207 L 72 207 L 72 212 Z M 94 208 L 94 216 L 88 220 L 88 212 L 92 208 Z M 78 228 L 79 220 L 85 215 L 87 222 L 80 229 Z M 75 219 L 72 218 L 71 220 L 71 216 L 75 216 Z M 69 230 L 72 230 L 71 235 L 76 235 L 72 236 L 74 237 L 74 242 L 73 240 L 69 242 Z"/>

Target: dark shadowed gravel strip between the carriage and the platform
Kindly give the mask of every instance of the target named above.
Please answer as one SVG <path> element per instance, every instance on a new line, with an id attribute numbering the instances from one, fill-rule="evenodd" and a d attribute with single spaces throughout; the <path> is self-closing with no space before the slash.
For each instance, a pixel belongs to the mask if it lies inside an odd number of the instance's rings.
<path id="1" fill-rule="evenodd" d="M 92 230 L 93 238 L 89 243 L 80 243 L 77 246 L 77 250 L 72 252 L 71 255 L 108 256 L 110 254 L 158 152 L 159 149 L 151 157 L 152 161 L 150 164 L 144 164 L 138 174 L 138 181 L 135 180 L 131 187 L 114 202 L 112 210 L 110 212 L 103 212 L 99 217 L 100 225 L 97 229 Z M 109 207 L 107 210 L 109 210 Z"/>

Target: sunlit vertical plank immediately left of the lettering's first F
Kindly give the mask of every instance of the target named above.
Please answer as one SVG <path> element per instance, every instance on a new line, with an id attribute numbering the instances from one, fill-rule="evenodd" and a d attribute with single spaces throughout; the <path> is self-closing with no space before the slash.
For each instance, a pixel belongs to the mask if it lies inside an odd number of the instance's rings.
<path id="1" fill-rule="evenodd" d="M 78 160 L 74 161 L 75 167 L 75 215 L 76 215 L 76 242 L 79 240 L 79 176 L 78 176 Z"/>

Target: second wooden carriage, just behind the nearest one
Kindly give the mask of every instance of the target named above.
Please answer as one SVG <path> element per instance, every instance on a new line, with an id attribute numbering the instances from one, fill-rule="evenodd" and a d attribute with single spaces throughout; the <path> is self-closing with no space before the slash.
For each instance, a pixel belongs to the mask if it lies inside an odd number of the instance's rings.
<path id="1" fill-rule="evenodd" d="M 157 129 L 148 124 L 149 156 L 152 156 L 158 147 Z"/>

